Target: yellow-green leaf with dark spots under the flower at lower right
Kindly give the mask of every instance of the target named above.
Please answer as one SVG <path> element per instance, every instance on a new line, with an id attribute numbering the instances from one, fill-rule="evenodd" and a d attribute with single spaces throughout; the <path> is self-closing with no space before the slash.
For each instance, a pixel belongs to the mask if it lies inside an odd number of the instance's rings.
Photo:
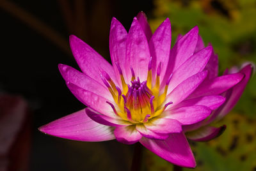
<path id="1" fill-rule="evenodd" d="M 255 170 L 256 120 L 231 113 L 218 125 L 227 124 L 220 137 L 209 142 L 189 142 L 195 154 L 195 170 Z M 173 165 L 145 149 L 143 170 L 173 170 Z M 183 168 L 183 170 L 191 170 Z"/>

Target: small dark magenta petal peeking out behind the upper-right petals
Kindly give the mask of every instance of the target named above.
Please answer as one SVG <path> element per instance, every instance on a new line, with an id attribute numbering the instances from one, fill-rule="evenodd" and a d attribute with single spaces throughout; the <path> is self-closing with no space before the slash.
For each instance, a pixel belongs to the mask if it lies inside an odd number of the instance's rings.
<path id="1" fill-rule="evenodd" d="M 211 45 L 209 43 L 209 45 Z M 205 70 L 208 71 L 208 79 L 212 79 L 215 77 L 218 77 L 218 72 L 219 72 L 219 62 L 218 62 L 218 55 L 214 54 L 214 52 L 211 54 L 211 57 L 205 66 Z"/>

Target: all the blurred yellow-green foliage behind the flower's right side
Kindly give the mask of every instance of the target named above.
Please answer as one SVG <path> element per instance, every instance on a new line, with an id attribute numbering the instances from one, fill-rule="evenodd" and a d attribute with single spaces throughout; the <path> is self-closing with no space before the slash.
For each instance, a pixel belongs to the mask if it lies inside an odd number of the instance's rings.
<path id="1" fill-rule="evenodd" d="M 219 57 L 220 74 L 226 68 L 256 63 L 256 1 L 156 0 L 149 20 L 153 31 L 168 17 L 172 45 L 178 34 L 197 25 L 205 45 L 211 42 Z M 236 107 L 218 126 L 227 130 L 210 142 L 191 142 L 195 170 L 256 170 L 256 77 L 252 77 Z M 145 150 L 143 170 L 173 170 L 173 165 Z M 184 170 L 190 170 L 184 168 Z"/>

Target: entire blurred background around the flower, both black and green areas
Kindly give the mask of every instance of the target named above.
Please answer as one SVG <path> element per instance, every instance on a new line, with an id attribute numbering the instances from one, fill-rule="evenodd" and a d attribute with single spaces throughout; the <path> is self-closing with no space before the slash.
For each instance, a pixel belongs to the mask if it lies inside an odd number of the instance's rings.
<path id="1" fill-rule="evenodd" d="M 152 31 L 169 17 L 173 43 L 197 25 L 219 56 L 220 73 L 256 63 L 255 0 L 1 0 L 0 170 L 130 169 L 133 145 L 64 140 L 37 128 L 83 108 L 58 71 L 59 63 L 78 69 L 68 36 L 75 34 L 110 61 L 111 18 L 128 30 L 139 11 L 147 14 Z M 195 170 L 256 170 L 255 85 L 253 77 L 234 110 L 216 123 L 227 125 L 221 137 L 190 142 Z M 142 170 L 172 167 L 143 150 Z"/>

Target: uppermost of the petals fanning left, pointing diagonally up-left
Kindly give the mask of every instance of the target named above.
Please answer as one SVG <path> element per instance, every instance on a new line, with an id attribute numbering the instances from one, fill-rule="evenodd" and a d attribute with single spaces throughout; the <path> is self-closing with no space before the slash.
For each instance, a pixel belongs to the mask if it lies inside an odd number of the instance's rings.
<path id="1" fill-rule="evenodd" d="M 112 80 L 116 83 L 115 71 L 111 64 L 100 56 L 92 47 L 84 43 L 74 35 L 69 37 L 70 48 L 77 61 L 78 66 L 83 73 L 93 78 L 99 83 L 102 83 L 100 78 L 100 69 L 106 71 Z M 103 85 L 103 83 L 102 83 Z"/>

